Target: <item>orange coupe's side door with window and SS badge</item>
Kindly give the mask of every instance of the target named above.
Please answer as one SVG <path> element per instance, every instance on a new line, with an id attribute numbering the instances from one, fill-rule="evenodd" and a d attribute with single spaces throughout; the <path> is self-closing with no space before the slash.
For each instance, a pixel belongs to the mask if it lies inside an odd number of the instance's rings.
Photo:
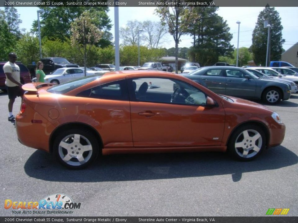
<path id="1" fill-rule="evenodd" d="M 202 102 L 206 100 L 206 94 L 202 90 L 171 78 L 129 77 L 127 81 L 134 147 L 198 147 L 221 144 L 224 109 L 221 104 L 218 107 L 204 107 Z M 149 82 L 157 87 L 148 88 Z M 175 101 L 171 100 L 177 93 L 174 90 L 176 88 L 173 88 L 174 84 L 181 89 L 179 100 Z M 192 98 L 194 96 L 187 96 L 189 93 L 196 95 L 196 102 Z"/>

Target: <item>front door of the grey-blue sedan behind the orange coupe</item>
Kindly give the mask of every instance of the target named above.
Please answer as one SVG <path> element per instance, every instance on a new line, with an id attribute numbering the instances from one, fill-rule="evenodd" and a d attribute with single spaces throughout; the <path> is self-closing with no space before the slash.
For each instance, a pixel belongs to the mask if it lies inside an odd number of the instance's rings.
<path id="1" fill-rule="evenodd" d="M 247 79 L 244 73 L 237 69 L 225 69 L 226 71 L 226 95 L 235 97 L 255 97 L 256 82 L 255 79 Z"/>

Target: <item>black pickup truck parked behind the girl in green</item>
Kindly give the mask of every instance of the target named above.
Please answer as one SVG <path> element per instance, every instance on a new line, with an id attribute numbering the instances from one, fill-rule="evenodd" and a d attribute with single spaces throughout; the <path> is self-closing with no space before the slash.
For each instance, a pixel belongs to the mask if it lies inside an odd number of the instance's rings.
<path id="1" fill-rule="evenodd" d="M 65 68 L 65 67 L 79 67 L 77 64 L 70 63 L 67 59 L 62 57 L 46 57 L 40 59 L 43 62 L 43 72 L 45 74 L 49 74 L 58 68 Z M 30 71 L 31 79 L 36 77 L 35 75 L 35 68 L 36 64 L 30 64 L 27 66 Z"/>

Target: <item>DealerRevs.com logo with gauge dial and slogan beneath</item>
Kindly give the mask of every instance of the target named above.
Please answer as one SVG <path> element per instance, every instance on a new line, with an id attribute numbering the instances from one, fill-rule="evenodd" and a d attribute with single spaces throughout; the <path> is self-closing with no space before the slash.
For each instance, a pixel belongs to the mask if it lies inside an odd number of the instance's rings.
<path id="1" fill-rule="evenodd" d="M 5 209 L 12 209 L 12 214 L 73 214 L 74 209 L 80 209 L 81 203 L 74 203 L 63 194 L 50 195 L 40 201 L 12 201 L 6 199 Z"/>

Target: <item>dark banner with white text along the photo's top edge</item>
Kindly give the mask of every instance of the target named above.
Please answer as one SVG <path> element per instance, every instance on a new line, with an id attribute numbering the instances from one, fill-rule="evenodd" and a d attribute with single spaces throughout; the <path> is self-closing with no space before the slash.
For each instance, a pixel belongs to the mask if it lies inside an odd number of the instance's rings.
<path id="1" fill-rule="evenodd" d="M 298 7 L 297 0 L 0 0 L 0 7 Z"/>

